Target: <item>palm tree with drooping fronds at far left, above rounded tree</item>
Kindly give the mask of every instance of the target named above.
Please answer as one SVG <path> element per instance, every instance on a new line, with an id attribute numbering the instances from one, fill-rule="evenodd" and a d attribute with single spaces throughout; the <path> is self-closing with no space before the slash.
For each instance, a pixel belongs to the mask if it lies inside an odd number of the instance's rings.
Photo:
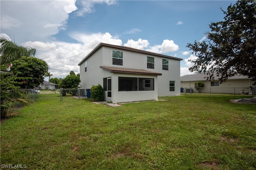
<path id="1" fill-rule="evenodd" d="M 23 56 L 26 57 L 35 57 L 36 55 L 36 49 L 32 47 L 23 47 L 20 46 L 12 41 L 10 39 L 1 37 L 0 38 L 1 43 L 1 65 L 3 64 L 10 64 L 12 61 L 15 61 L 17 59 L 20 59 Z"/>

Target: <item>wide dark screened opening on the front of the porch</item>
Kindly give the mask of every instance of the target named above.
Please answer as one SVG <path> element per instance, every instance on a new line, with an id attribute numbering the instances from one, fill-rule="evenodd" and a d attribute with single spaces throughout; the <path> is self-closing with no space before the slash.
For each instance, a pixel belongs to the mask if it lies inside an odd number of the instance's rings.
<path id="1" fill-rule="evenodd" d="M 154 78 L 118 77 L 118 91 L 154 90 Z"/>

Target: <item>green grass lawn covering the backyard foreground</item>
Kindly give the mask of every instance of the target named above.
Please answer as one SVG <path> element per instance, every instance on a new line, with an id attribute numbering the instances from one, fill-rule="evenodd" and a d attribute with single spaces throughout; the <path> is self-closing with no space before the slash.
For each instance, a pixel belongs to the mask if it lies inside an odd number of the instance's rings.
<path id="1" fill-rule="evenodd" d="M 252 96 L 243 96 L 252 97 Z M 27 169 L 256 169 L 256 105 L 188 94 L 108 107 L 39 94 L 1 124 L 1 164 Z"/>

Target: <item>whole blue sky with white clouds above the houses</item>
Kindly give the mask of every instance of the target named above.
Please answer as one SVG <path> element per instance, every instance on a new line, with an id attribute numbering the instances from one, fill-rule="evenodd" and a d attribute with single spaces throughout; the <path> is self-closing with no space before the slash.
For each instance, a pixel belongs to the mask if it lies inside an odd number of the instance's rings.
<path id="1" fill-rule="evenodd" d="M 65 77 L 100 42 L 196 59 L 186 45 L 204 39 L 211 22 L 235 1 L 0 1 L 1 37 L 37 49 L 52 77 Z"/>

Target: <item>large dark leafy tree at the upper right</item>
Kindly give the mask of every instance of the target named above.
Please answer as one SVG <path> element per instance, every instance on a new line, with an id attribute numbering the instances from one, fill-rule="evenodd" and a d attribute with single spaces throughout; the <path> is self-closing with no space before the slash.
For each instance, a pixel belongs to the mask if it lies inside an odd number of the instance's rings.
<path id="1" fill-rule="evenodd" d="M 220 83 L 236 74 L 256 80 L 256 1 L 238 0 L 222 11 L 224 19 L 210 24 L 206 41 L 186 46 L 198 57 L 189 70 L 206 73 L 208 80 L 216 73 Z"/>

